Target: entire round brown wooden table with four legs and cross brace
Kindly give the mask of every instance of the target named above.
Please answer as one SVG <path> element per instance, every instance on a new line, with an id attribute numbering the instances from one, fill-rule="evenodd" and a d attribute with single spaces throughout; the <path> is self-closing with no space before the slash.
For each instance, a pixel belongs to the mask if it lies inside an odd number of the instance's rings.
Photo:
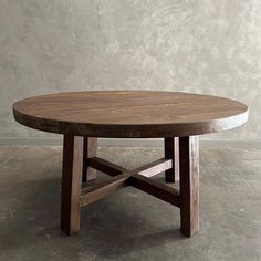
<path id="1" fill-rule="evenodd" d="M 231 129 L 248 121 L 248 107 L 209 95 L 107 91 L 41 95 L 14 103 L 14 118 L 31 128 L 64 135 L 61 229 L 80 229 L 81 207 L 119 188 L 133 186 L 180 208 L 181 232 L 199 230 L 198 135 Z M 129 170 L 95 156 L 96 138 L 164 138 L 165 155 Z M 82 189 L 95 178 L 91 169 L 109 176 L 105 182 Z M 167 182 L 149 179 L 165 171 Z"/>

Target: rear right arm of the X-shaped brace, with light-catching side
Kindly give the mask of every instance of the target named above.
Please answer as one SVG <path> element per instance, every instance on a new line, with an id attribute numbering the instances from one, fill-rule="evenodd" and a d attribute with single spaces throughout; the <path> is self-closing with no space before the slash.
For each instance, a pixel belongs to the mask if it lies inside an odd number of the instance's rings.
<path id="1" fill-rule="evenodd" d="M 156 161 L 144 165 L 143 167 L 136 168 L 133 171 L 149 178 L 171 168 L 173 168 L 171 159 L 160 158 Z"/>

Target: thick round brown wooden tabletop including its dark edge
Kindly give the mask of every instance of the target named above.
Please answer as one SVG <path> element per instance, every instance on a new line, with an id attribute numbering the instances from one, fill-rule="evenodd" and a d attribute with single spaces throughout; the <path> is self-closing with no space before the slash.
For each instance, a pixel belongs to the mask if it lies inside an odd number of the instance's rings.
<path id="1" fill-rule="evenodd" d="M 88 137 L 153 138 L 217 133 L 248 119 L 248 106 L 223 97 L 154 91 L 56 93 L 13 104 L 31 128 Z"/>

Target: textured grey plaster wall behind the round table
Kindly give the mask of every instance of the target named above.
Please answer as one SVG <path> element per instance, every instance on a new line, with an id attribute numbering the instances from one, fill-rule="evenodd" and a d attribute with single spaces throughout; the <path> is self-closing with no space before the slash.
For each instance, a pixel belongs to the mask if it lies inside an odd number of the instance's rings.
<path id="1" fill-rule="evenodd" d="M 0 138 L 50 137 L 14 124 L 11 104 L 76 90 L 216 94 L 251 106 L 260 139 L 260 0 L 0 0 Z"/>

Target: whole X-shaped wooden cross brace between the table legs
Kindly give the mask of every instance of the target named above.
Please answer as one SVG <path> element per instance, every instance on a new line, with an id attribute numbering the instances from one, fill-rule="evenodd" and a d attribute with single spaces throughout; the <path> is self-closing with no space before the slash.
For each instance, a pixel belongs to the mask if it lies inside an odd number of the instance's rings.
<path id="1" fill-rule="evenodd" d="M 156 173 L 159 174 L 166 168 L 171 167 L 170 159 L 158 159 L 134 170 L 126 169 L 98 157 L 90 158 L 90 164 L 100 171 L 112 176 L 113 179 L 94 186 L 91 190 L 84 189 L 83 206 L 94 202 L 126 185 L 140 189 L 174 206 L 180 206 L 179 191 L 177 189 L 148 178 L 156 175 Z M 88 195 L 92 197 L 88 198 Z"/>

